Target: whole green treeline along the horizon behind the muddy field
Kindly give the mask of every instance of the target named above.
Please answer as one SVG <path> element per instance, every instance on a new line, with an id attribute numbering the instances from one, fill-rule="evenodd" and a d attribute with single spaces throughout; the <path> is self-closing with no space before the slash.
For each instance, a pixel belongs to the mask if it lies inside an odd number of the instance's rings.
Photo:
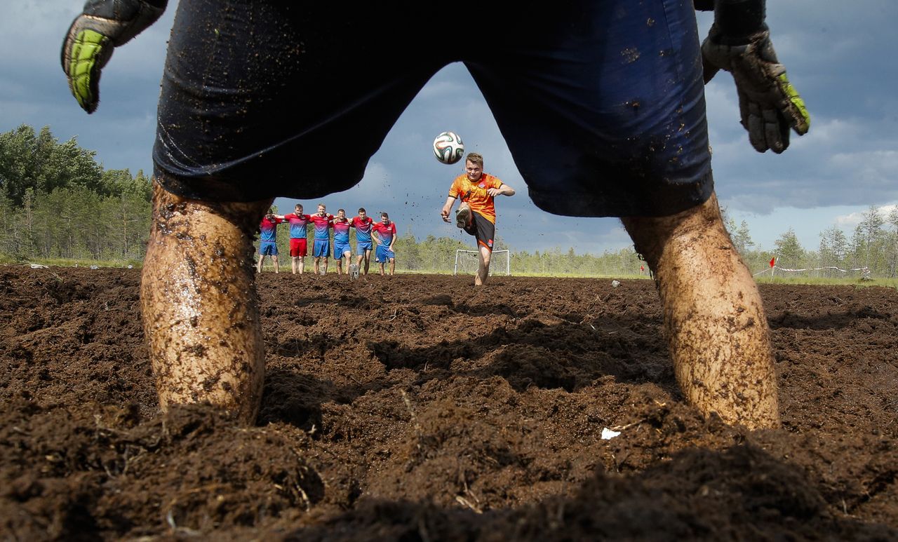
<path id="1" fill-rule="evenodd" d="M 43 127 L 22 125 L 0 134 L 0 261 L 33 259 L 111 260 L 139 263 L 150 229 L 151 180 L 142 170 L 104 170 L 96 153 L 75 138 L 60 143 Z M 736 248 L 753 273 L 777 268 L 809 269 L 812 276 L 896 276 L 898 208 L 884 214 L 871 205 L 848 236 L 836 226 L 820 233 L 820 244 L 802 247 L 793 230 L 772 250 L 757 249 L 748 224 L 726 218 Z M 286 228 L 278 235 L 282 264 L 288 264 Z M 452 271 L 461 240 L 418 239 L 409 230 L 394 245 L 396 267 L 407 271 Z M 511 251 L 511 272 L 536 275 L 638 275 L 644 266 L 633 249 L 577 254 L 574 248 Z M 287 267 L 288 268 L 288 267 Z"/>

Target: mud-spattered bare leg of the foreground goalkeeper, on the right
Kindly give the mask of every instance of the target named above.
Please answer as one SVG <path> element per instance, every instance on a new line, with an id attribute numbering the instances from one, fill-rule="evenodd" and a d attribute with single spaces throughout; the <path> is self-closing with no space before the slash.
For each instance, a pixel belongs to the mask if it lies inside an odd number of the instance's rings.
<path id="1" fill-rule="evenodd" d="M 662 218 L 625 218 L 655 271 L 665 336 L 683 395 L 727 424 L 779 427 L 761 294 L 729 239 L 717 197 Z"/>

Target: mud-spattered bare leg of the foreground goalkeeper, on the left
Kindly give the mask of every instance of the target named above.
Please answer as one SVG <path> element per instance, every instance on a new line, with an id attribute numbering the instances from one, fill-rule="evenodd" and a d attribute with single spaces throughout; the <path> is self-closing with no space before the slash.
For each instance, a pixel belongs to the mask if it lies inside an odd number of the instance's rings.
<path id="1" fill-rule="evenodd" d="M 140 299 L 163 410 L 209 402 L 255 421 L 265 360 L 252 240 L 269 205 L 200 202 L 154 186 Z"/>

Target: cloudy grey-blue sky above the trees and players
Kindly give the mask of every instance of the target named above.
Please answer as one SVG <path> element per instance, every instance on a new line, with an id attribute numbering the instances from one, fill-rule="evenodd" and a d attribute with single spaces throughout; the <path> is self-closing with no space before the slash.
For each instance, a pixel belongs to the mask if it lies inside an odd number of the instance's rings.
<path id="1" fill-rule="evenodd" d="M 155 110 L 165 43 L 176 0 L 163 19 L 116 49 L 103 71 L 101 104 L 87 116 L 68 93 L 59 46 L 82 4 L 77 0 L 4 0 L 0 34 L 0 131 L 49 126 L 60 141 L 77 137 L 105 168 L 152 170 Z M 849 235 L 869 205 L 898 204 L 898 2 L 894 0 L 769 0 L 768 22 L 779 59 L 812 115 L 807 136 L 793 136 L 781 155 L 756 153 L 738 124 L 732 78 L 718 74 L 706 89 L 718 197 L 753 240 L 772 249 L 792 228 L 806 249 L 834 225 Z M 700 16 L 700 33 L 710 24 Z M 890 37 L 892 36 L 892 37 Z M 388 211 L 401 234 L 470 240 L 439 218 L 459 164 L 436 162 L 433 138 L 453 130 L 486 170 L 518 188 L 497 201 L 498 234 L 513 249 L 573 247 L 577 253 L 629 246 L 616 219 L 574 219 L 543 213 L 524 181 L 486 102 L 461 64 L 447 66 L 418 94 L 374 154 L 356 188 L 324 198 L 329 210 Z M 349 142 L 348 142 L 349 143 Z M 295 164 L 302 168 L 303 164 Z M 278 199 L 282 211 L 294 200 Z M 317 202 L 304 202 L 306 209 Z M 542 232 L 542 233 L 534 233 Z"/>

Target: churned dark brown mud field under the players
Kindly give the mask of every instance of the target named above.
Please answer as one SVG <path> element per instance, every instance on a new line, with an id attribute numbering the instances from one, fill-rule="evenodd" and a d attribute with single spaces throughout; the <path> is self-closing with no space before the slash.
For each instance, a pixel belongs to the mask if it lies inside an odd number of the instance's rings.
<path id="1" fill-rule="evenodd" d="M 159 414 L 137 270 L 0 267 L 0 539 L 898 539 L 894 289 L 762 285 L 750 432 L 682 403 L 650 281 L 346 278 L 260 275 L 242 428 Z"/>

